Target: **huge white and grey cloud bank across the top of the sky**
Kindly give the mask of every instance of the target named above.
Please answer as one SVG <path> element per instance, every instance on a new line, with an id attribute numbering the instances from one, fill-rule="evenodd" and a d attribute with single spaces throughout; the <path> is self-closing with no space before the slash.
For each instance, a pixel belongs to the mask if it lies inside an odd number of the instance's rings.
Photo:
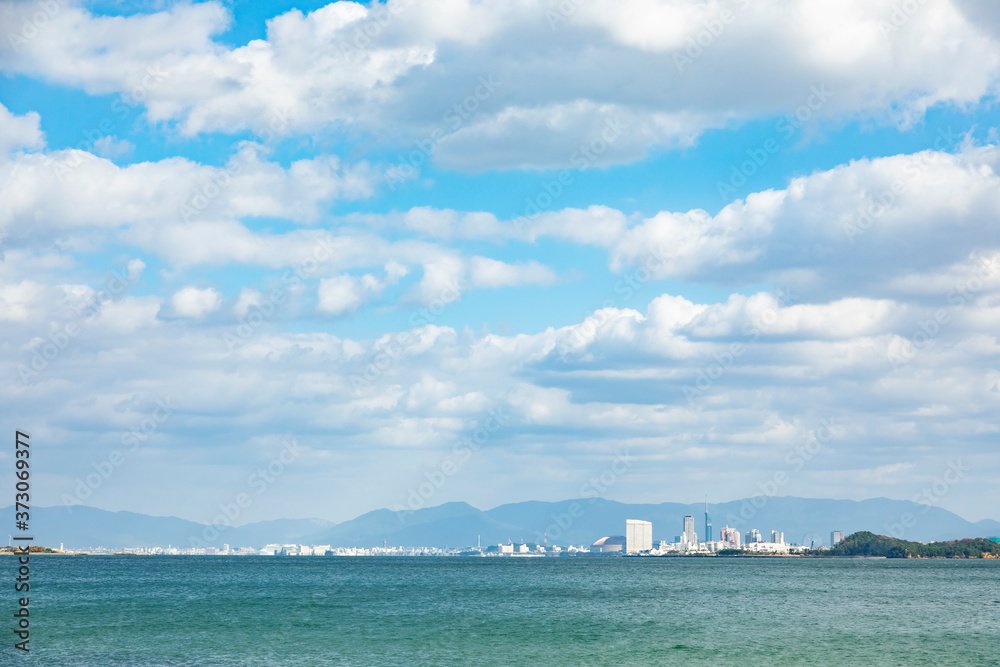
<path id="1" fill-rule="evenodd" d="M 926 0 L 902 17 L 897 5 L 336 2 L 272 18 L 266 39 L 237 48 L 213 41 L 230 20 L 215 2 L 125 18 L 67 7 L 5 44 L 0 68 L 137 99 L 187 134 L 349 129 L 429 141 L 459 169 L 568 166 L 620 123 L 587 158 L 612 164 L 793 112 L 817 86 L 818 116 L 902 124 L 995 94 L 1000 41 L 981 3 Z M 32 11 L 0 5 L 9 25 Z"/>

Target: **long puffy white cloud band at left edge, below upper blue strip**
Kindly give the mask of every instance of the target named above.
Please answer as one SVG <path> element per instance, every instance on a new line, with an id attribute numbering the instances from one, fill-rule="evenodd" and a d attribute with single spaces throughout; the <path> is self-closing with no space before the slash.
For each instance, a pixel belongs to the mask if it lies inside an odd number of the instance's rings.
<path id="1" fill-rule="evenodd" d="M 370 196 L 375 174 L 364 163 L 326 156 L 288 169 L 244 145 L 224 167 L 185 158 L 119 167 L 82 150 L 31 153 L 0 163 L 0 234 L 11 241 L 74 228 L 128 228 L 133 241 L 158 242 L 179 230 L 234 225 L 274 216 L 309 223 L 338 200 Z M 58 191 L 59 197 L 50 193 Z M 115 196 L 108 198 L 107 193 Z M 29 222 L 30 221 L 30 222 Z M 190 244 L 189 244 L 190 249 Z"/>

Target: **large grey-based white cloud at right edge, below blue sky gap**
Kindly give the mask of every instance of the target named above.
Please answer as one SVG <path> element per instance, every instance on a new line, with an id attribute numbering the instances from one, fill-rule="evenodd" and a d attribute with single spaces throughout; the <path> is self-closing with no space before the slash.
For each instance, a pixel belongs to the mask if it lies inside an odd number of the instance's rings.
<path id="1" fill-rule="evenodd" d="M 926 281 L 959 264 L 968 272 L 975 255 L 1000 251 L 998 162 L 995 146 L 858 160 L 714 216 L 648 218 L 621 236 L 611 265 L 652 266 L 660 277 L 771 280 L 825 295 L 902 289 L 914 275 Z M 647 261 L 651 253 L 662 261 Z"/>

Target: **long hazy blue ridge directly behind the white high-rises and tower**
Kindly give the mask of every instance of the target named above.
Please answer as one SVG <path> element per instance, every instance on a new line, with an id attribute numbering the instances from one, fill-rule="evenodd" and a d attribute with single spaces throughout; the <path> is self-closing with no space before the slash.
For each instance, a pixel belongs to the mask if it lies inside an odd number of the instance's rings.
<path id="1" fill-rule="evenodd" d="M 758 504 L 760 500 L 758 499 Z M 1000 522 L 972 523 L 936 507 L 909 501 L 875 498 L 871 500 L 826 500 L 816 498 L 769 497 L 760 508 L 749 500 L 708 506 L 716 539 L 724 525 L 747 532 L 757 528 L 765 537 L 771 530 L 784 532 L 785 541 L 796 544 L 828 544 L 830 532 L 845 535 L 868 530 L 893 534 L 908 540 L 954 540 L 1000 534 Z M 389 510 L 369 512 L 353 521 L 320 531 L 312 538 L 326 544 L 371 546 L 451 546 L 514 542 L 549 544 L 591 544 L 605 535 L 622 535 L 626 519 L 653 523 L 653 541 L 673 541 L 682 532 L 684 516 L 694 517 L 699 539 L 704 539 L 705 506 L 680 503 L 626 504 L 603 498 L 559 502 L 528 501 L 477 510 L 465 503 L 448 503 L 415 512 Z M 910 515 L 913 520 L 904 516 Z M 905 523 L 912 525 L 906 526 Z"/>

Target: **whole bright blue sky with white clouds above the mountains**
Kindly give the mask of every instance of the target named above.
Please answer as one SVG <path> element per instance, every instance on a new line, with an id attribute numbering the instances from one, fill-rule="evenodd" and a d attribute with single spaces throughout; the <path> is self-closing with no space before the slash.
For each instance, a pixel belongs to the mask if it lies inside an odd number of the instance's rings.
<path id="1" fill-rule="evenodd" d="M 992 0 L 0 26 L 0 410 L 36 504 L 1000 519 Z"/>

